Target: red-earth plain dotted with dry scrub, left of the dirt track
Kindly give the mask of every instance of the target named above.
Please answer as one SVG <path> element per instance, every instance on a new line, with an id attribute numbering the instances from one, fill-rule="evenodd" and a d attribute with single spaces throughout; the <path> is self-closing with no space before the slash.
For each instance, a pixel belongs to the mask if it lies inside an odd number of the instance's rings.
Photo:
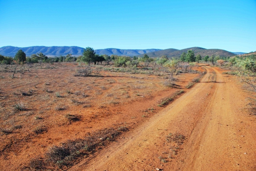
<path id="1" fill-rule="evenodd" d="M 11 170 L 69 167 L 154 115 L 204 72 L 194 67 L 198 72 L 178 73 L 175 86 L 165 86 L 169 73 L 159 66 L 102 65 L 89 77 L 76 75 L 77 63 L 24 64 L 12 77 L 15 67 L 0 66 L 0 166 Z"/>

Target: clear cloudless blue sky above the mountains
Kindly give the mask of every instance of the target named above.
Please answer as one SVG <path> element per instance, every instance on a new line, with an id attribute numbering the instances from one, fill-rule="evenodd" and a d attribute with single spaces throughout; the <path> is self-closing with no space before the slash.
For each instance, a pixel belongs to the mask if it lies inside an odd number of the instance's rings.
<path id="1" fill-rule="evenodd" d="M 256 0 L 0 0 L 0 47 L 256 50 Z"/>

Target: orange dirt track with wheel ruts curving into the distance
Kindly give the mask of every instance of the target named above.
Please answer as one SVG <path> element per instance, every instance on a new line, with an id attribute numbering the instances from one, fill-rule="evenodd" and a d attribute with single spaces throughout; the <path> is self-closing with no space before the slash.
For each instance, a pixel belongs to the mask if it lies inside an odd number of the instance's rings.
<path id="1" fill-rule="evenodd" d="M 244 111 L 246 93 L 234 79 L 206 69 L 201 82 L 179 99 L 70 170 L 256 170 L 256 122 Z M 168 158 L 169 133 L 186 136 L 174 158 Z"/>

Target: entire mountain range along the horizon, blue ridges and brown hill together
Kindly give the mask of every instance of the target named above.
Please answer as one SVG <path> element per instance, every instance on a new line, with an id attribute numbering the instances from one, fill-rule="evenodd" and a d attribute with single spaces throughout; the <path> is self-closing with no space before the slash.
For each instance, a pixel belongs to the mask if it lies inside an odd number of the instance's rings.
<path id="1" fill-rule="evenodd" d="M 82 55 L 84 48 L 78 46 L 31 46 L 31 47 L 14 47 L 14 46 L 3 46 L 0 48 L 0 55 L 4 56 L 15 56 L 16 52 L 21 49 L 26 53 L 27 56 L 36 53 L 44 53 L 48 56 L 59 56 L 72 54 L 75 56 Z M 206 55 L 219 55 L 221 57 L 234 56 L 238 54 L 243 54 L 243 52 L 228 52 L 222 49 L 205 49 L 202 47 L 191 47 L 186 49 L 96 49 L 95 52 L 98 55 L 124 55 L 124 56 L 137 56 L 142 57 L 144 54 L 147 54 L 149 57 L 161 57 L 167 55 L 167 57 L 180 57 L 183 52 L 188 50 L 194 50 L 195 55 L 200 54 L 201 56 Z"/>

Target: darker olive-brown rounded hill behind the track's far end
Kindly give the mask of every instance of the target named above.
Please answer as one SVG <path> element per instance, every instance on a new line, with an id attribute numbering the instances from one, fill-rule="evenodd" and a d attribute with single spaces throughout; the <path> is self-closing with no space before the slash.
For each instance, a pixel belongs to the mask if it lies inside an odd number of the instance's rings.
<path id="1" fill-rule="evenodd" d="M 212 55 L 219 55 L 220 57 L 228 57 L 228 56 L 234 56 L 236 54 L 232 53 L 232 52 L 228 52 L 226 50 L 222 50 L 222 49 L 205 49 L 202 47 L 191 47 L 191 48 L 187 48 L 187 49 L 181 49 L 181 50 L 169 50 L 169 49 L 164 49 L 164 50 L 160 50 L 157 52 L 150 52 L 150 53 L 146 53 L 149 57 L 161 57 L 162 55 L 167 55 L 167 57 L 174 57 L 174 58 L 179 58 L 180 55 L 183 52 L 187 52 L 188 50 L 194 50 L 195 55 L 200 54 L 201 56 L 212 56 Z M 143 55 L 137 55 L 138 57 L 141 57 Z"/>

